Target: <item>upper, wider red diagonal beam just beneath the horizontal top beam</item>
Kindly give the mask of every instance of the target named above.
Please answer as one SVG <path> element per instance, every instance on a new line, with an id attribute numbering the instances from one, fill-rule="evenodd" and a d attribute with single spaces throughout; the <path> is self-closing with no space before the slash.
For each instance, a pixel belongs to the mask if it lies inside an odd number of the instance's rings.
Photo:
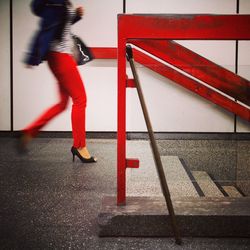
<path id="1" fill-rule="evenodd" d="M 248 80 L 173 41 L 132 40 L 132 43 L 250 106 Z"/>

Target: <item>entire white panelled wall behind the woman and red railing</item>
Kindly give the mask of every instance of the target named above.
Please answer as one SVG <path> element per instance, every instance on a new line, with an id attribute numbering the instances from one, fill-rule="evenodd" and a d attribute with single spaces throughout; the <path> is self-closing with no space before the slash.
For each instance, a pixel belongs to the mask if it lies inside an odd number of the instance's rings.
<path id="1" fill-rule="evenodd" d="M 1 1 L 0 41 L 6 50 L 0 68 L 0 130 L 10 129 L 9 100 L 9 1 Z M 5 4 L 4 4 L 5 3 Z M 89 46 L 116 47 L 117 14 L 122 13 L 123 0 L 75 0 L 84 5 L 85 15 L 73 31 Z M 26 69 L 22 58 L 37 29 L 38 18 L 32 15 L 30 0 L 13 0 L 14 49 L 14 129 L 19 130 L 57 101 L 57 86 L 46 63 Z M 212 13 L 234 14 L 236 0 L 126 0 L 127 13 Z M 250 13 L 250 1 L 240 0 L 240 13 Z M 2 26 L 3 24 L 3 26 Z M 3 27 L 3 28 L 2 28 Z M 2 36 L 3 34 L 3 36 Z M 179 41 L 210 60 L 234 71 L 234 41 Z M 249 78 L 250 42 L 239 42 L 239 74 Z M 3 65 L 3 63 L 1 63 Z M 87 95 L 87 130 L 117 129 L 117 68 L 115 60 L 95 60 L 79 67 Z M 131 74 L 129 72 L 128 74 Z M 194 95 L 175 83 L 138 65 L 146 101 L 155 131 L 166 132 L 232 132 L 234 115 Z M 6 84 L 7 83 L 7 84 Z M 4 95 L 2 94 L 4 93 Z M 145 124 L 135 90 L 128 90 L 127 130 L 144 131 Z M 44 130 L 71 130 L 70 108 L 54 119 Z M 249 131 L 249 123 L 237 122 L 237 130 Z"/>

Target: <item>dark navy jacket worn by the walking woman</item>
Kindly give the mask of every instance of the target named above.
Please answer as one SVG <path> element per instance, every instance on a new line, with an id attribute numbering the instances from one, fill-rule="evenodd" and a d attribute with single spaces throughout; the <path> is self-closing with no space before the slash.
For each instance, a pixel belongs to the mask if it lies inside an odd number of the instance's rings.
<path id="1" fill-rule="evenodd" d="M 39 30 L 32 39 L 25 63 L 39 65 L 42 61 L 46 60 L 50 43 L 54 39 L 60 39 L 66 21 L 67 1 L 33 0 L 31 2 L 31 10 L 41 18 L 41 21 Z M 80 19 L 80 16 L 76 16 L 73 23 Z"/>

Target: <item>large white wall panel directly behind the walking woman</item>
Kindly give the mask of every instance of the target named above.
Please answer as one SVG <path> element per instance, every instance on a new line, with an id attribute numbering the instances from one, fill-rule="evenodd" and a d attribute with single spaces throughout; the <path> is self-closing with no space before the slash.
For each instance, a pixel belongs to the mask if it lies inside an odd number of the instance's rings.
<path id="1" fill-rule="evenodd" d="M 52 73 L 43 63 L 27 69 L 22 63 L 25 50 L 37 29 L 38 18 L 29 8 L 30 0 L 14 0 L 14 129 L 19 130 L 57 102 L 57 85 Z M 116 16 L 122 12 L 122 0 L 72 1 L 84 5 L 83 20 L 74 25 L 74 33 L 89 46 L 116 46 Z M 116 63 L 96 60 L 79 67 L 87 96 L 87 129 L 89 131 L 116 130 Z M 44 130 L 68 131 L 71 104 L 49 123 Z"/>

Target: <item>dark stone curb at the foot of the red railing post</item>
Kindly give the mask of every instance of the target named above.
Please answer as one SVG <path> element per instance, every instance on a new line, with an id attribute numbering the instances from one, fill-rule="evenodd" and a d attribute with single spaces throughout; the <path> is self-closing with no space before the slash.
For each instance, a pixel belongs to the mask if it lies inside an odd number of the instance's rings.
<path id="1" fill-rule="evenodd" d="M 181 197 L 173 199 L 182 237 L 250 237 L 250 198 Z M 104 197 L 98 215 L 99 236 L 173 236 L 163 197 Z"/>

